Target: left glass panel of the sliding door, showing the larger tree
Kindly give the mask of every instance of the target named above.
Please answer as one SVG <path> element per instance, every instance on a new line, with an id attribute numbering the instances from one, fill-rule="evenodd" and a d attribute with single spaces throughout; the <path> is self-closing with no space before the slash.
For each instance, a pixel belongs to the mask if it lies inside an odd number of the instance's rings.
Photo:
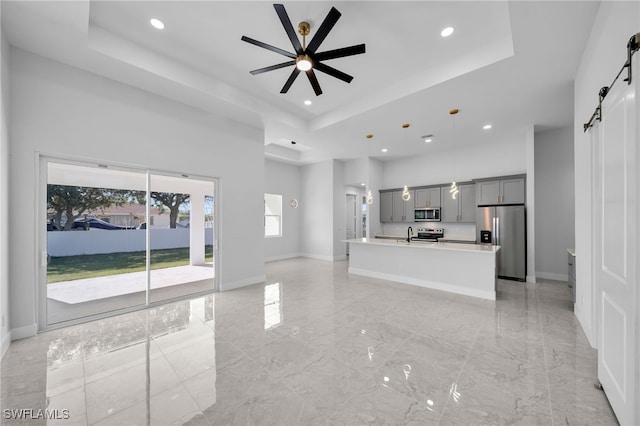
<path id="1" fill-rule="evenodd" d="M 47 325 L 144 305 L 146 174 L 47 163 Z"/>

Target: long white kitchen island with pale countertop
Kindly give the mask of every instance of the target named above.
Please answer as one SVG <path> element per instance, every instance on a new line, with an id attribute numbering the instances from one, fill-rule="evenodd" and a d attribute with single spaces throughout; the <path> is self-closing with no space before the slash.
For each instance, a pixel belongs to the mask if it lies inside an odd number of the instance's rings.
<path id="1" fill-rule="evenodd" d="M 349 273 L 496 300 L 499 246 L 358 238 Z"/>

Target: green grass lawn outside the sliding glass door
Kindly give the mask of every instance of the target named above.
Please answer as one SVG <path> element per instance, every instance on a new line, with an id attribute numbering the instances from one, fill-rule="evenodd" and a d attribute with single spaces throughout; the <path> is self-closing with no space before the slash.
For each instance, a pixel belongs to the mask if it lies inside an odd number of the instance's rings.
<path id="1" fill-rule="evenodd" d="M 146 253 L 86 254 L 52 257 L 47 267 L 47 282 L 73 281 L 146 270 Z M 213 262 L 213 246 L 205 246 L 205 261 Z M 173 268 L 189 264 L 189 249 L 151 251 L 151 269 Z"/>

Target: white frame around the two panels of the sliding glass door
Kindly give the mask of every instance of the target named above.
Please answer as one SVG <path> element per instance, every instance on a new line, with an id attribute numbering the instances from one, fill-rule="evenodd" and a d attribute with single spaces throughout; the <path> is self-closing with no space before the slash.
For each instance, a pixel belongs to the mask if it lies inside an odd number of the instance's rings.
<path id="1" fill-rule="evenodd" d="M 115 315 L 121 315 L 127 312 L 139 311 L 142 309 L 147 309 L 149 307 L 163 305 L 166 303 L 171 303 L 179 300 L 192 299 L 199 296 L 203 296 L 206 294 L 211 294 L 214 292 L 218 292 L 220 289 L 220 178 L 213 176 L 203 176 L 193 173 L 185 173 L 185 172 L 173 172 L 166 170 L 154 169 L 151 167 L 145 167 L 141 165 L 135 164 L 126 164 L 119 163 L 108 160 L 97 160 L 93 158 L 84 158 L 77 156 L 65 156 L 44 152 L 35 152 L 36 162 L 36 176 L 34 176 L 34 187 L 35 187 L 35 200 L 34 200 L 34 208 L 35 212 L 35 253 L 34 253 L 34 280 L 35 280 L 35 323 L 37 324 L 37 332 L 43 332 L 48 330 L 54 330 L 57 328 L 67 327 L 75 324 L 82 324 L 88 321 L 94 321 L 101 318 L 108 318 Z M 47 194 L 47 165 L 49 162 L 61 163 L 61 164 L 70 164 L 77 166 L 106 166 L 110 170 L 122 170 L 128 172 L 137 172 L 141 173 L 145 176 L 145 180 L 147 183 L 149 182 L 151 175 L 163 175 L 163 176 L 174 176 L 174 177 L 182 177 L 185 179 L 197 179 L 202 181 L 210 181 L 213 184 L 214 188 L 214 219 L 213 219 L 213 268 L 214 268 L 214 278 L 213 278 L 213 289 L 207 290 L 199 293 L 192 293 L 185 296 L 179 296 L 172 299 L 160 300 L 157 302 L 151 302 L 149 298 L 149 292 L 146 295 L 146 302 L 143 305 L 136 305 L 132 307 L 126 307 L 122 309 L 117 309 L 114 311 L 108 311 L 104 313 L 98 313 L 95 315 L 90 315 L 82 318 L 76 318 L 68 321 L 63 321 L 55 324 L 47 323 L 47 204 L 46 204 L 46 194 Z M 147 187 L 147 190 L 149 188 Z M 147 203 L 147 207 L 149 203 Z M 148 213 L 148 212 L 147 212 Z M 148 216 L 148 215 L 147 215 Z M 150 229 L 147 227 L 147 243 L 149 241 Z M 149 252 L 149 247 L 146 248 L 147 254 Z M 147 258 L 147 266 L 149 266 L 149 259 Z M 147 276 L 149 276 L 149 270 L 147 269 Z M 149 283 L 147 282 L 147 287 Z"/>

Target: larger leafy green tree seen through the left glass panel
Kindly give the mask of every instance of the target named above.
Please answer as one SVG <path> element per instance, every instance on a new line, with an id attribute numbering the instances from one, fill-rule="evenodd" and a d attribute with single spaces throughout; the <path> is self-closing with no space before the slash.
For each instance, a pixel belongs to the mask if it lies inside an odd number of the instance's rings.
<path id="1" fill-rule="evenodd" d="M 64 230 L 73 227 L 73 222 L 85 212 L 121 206 L 128 201 L 128 191 L 119 189 L 91 188 L 72 185 L 47 185 L 47 210 L 53 211 L 53 225 L 62 229 L 62 215 L 67 221 Z"/>

